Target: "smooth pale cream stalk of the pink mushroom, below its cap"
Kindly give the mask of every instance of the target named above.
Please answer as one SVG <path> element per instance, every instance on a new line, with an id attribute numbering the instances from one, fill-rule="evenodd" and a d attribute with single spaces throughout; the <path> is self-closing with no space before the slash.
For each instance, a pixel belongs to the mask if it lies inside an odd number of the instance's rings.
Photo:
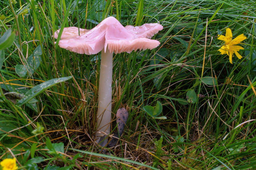
<path id="1" fill-rule="evenodd" d="M 96 132 L 96 142 L 100 143 L 101 146 L 107 145 L 107 135 L 109 135 L 110 133 L 112 102 L 112 65 L 113 53 L 110 53 L 108 48 L 106 49 L 105 53 L 103 49 L 101 51 L 100 62 L 99 103 L 97 115 L 98 130 Z"/>

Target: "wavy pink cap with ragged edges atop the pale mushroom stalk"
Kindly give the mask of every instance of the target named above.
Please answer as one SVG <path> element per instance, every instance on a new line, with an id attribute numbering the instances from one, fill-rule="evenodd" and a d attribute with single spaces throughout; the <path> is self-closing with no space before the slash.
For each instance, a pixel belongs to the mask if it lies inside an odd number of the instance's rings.
<path id="1" fill-rule="evenodd" d="M 144 24 L 142 26 L 122 26 L 114 17 L 104 19 L 91 30 L 77 27 L 66 27 L 61 34 L 59 46 L 79 54 L 97 54 L 103 48 L 106 52 L 130 53 L 137 49 L 153 49 L 160 42 L 151 40 L 154 34 L 162 30 L 163 26 L 158 23 Z M 54 33 L 58 37 L 59 30 Z"/>

